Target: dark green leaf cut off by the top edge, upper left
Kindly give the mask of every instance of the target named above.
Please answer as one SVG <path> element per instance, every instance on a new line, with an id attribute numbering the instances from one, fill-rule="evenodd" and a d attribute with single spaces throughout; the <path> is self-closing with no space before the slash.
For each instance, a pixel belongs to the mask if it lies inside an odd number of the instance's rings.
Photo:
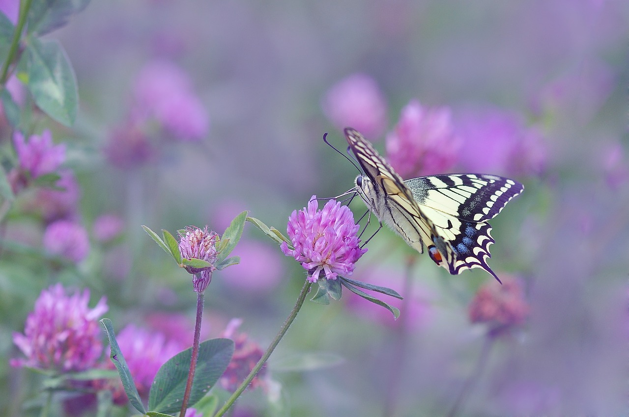
<path id="1" fill-rule="evenodd" d="M 28 10 L 28 33 L 41 36 L 65 26 L 70 16 L 87 4 L 89 0 L 33 0 Z"/>

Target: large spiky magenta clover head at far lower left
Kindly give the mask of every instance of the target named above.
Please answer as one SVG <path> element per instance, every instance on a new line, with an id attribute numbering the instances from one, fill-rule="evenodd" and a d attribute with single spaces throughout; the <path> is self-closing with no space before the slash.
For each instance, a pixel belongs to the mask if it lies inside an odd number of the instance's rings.
<path id="1" fill-rule="evenodd" d="M 103 353 L 103 332 L 98 319 L 107 310 L 103 297 L 88 308 L 89 290 L 71 295 L 61 284 L 43 290 L 26 318 L 24 334 L 13 333 L 13 342 L 26 359 L 12 359 L 12 366 L 84 371 Z"/>

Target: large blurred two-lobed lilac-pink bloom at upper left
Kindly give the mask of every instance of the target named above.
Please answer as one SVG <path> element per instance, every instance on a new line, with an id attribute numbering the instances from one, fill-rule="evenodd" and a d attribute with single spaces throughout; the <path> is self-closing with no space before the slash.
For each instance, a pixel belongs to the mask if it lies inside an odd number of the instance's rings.
<path id="1" fill-rule="evenodd" d="M 156 119 L 177 140 L 196 141 L 208 134 L 208 112 L 187 74 L 173 63 L 148 63 L 136 79 L 134 92 L 136 117 Z"/>

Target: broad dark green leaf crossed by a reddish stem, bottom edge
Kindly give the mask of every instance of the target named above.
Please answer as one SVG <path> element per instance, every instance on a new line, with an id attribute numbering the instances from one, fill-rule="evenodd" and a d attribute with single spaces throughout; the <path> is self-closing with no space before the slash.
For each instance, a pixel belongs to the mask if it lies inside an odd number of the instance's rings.
<path id="1" fill-rule="evenodd" d="M 190 406 L 194 406 L 216 384 L 227 369 L 233 352 L 234 342 L 227 338 L 214 338 L 199 345 Z M 160 413 L 179 411 L 186 390 L 191 358 L 192 348 L 179 352 L 160 367 L 148 395 L 149 409 Z"/>

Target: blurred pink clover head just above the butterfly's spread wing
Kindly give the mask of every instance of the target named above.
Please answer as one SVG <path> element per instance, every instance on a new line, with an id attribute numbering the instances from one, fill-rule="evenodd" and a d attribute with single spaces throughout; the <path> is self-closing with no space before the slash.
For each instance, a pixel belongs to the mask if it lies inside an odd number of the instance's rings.
<path id="1" fill-rule="evenodd" d="M 445 173 L 457 163 L 460 144 L 448 107 L 411 100 L 387 134 L 387 159 L 402 178 Z"/>

